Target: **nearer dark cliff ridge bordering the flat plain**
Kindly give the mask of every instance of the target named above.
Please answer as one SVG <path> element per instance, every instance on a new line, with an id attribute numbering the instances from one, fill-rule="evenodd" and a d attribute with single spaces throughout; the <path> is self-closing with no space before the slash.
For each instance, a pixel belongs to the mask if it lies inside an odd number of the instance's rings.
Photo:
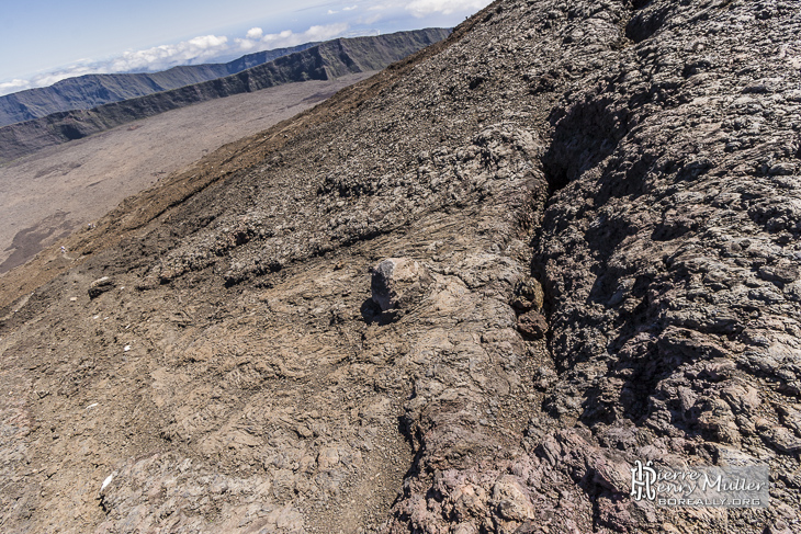
<path id="1" fill-rule="evenodd" d="M 53 113 L 0 128 L 0 163 L 42 148 L 81 139 L 123 124 L 234 94 L 307 80 L 332 80 L 380 70 L 443 39 L 449 30 L 427 29 L 327 41 L 302 52 L 214 80 L 112 102 L 91 110 Z"/>

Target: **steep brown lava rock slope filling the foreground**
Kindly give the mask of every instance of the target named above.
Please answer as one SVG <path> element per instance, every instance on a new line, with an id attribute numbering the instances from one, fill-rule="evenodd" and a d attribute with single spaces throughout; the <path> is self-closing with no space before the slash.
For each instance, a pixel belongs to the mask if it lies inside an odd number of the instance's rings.
<path id="1" fill-rule="evenodd" d="M 0 525 L 798 532 L 799 31 L 500 0 L 7 273 Z"/>

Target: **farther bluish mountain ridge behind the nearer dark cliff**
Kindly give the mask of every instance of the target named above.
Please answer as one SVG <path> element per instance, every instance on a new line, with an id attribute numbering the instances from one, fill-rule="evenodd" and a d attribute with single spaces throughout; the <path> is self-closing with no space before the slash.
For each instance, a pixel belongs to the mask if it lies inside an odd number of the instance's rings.
<path id="1" fill-rule="evenodd" d="M 145 96 L 235 75 L 319 43 L 257 52 L 225 64 L 183 65 L 160 72 L 84 75 L 45 88 L 0 96 L 0 126 L 71 110 L 90 110 L 111 102 Z"/>

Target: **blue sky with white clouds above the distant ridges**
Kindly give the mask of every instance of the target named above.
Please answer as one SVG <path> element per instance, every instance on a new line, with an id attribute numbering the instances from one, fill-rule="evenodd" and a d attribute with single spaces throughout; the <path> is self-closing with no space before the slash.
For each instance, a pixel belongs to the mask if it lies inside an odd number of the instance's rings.
<path id="1" fill-rule="evenodd" d="M 490 0 L 2 0 L 0 95 L 336 37 L 451 27 Z"/>

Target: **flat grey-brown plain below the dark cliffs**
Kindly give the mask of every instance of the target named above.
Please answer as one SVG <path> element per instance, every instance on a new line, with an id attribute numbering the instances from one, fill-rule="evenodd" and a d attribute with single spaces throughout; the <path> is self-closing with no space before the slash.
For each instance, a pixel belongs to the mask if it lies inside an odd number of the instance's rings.
<path id="1" fill-rule="evenodd" d="M 0 273 L 208 151 L 285 121 L 373 73 L 210 100 L 0 166 Z"/>

